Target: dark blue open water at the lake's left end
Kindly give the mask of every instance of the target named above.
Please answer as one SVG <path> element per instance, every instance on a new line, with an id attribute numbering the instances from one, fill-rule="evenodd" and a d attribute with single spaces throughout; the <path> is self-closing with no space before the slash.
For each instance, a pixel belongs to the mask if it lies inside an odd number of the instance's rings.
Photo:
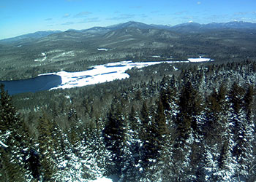
<path id="1" fill-rule="evenodd" d="M 8 90 L 10 95 L 25 92 L 39 92 L 42 90 L 50 90 L 61 84 L 61 76 L 50 74 L 37 76 L 33 79 L 20 79 L 15 81 L 0 81 L 4 84 L 4 89 Z"/>

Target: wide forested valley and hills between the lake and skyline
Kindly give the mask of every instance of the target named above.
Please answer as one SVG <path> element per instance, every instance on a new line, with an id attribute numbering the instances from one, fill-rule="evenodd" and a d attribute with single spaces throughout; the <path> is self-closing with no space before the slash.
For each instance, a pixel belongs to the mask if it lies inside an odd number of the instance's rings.
<path id="1" fill-rule="evenodd" d="M 187 60 L 203 55 L 226 62 L 256 57 L 253 28 L 191 31 L 193 26 L 182 25 L 183 31 L 180 31 L 177 28 L 180 26 L 158 28 L 128 22 L 105 28 L 53 32 L 34 39 L 25 36 L 24 39 L 1 40 L 0 80 L 27 79 L 58 71 L 84 71 L 89 66 L 124 60 Z"/>

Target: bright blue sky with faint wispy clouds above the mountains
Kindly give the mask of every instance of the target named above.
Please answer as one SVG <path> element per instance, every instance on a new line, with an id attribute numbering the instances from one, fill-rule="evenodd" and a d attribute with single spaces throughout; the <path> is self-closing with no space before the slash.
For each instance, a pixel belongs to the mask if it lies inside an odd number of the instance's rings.
<path id="1" fill-rule="evenodd" d="M 86 29 L 127 21 L 176 25 L 256 23 L 256 0 L 1 0 L 0 39 L 35 31 Z"/>

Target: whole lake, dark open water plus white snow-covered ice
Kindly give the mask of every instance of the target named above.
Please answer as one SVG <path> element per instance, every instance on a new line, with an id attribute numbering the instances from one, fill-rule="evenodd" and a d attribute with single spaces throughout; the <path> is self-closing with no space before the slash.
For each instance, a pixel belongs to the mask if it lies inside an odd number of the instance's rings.
<path id="1" fill-rule="evenodd" d="M 194 59 L 192 62 L 202 62 L 203 58 Z M 111 82 L 115 79 L 127 79 L 129 74 L 125 71 L 131 68 L 143 68 L 159 63 L 189 63 L 189 61 L 154 61 L 132 62 L 132 60 L 108 63 L 105 65 L 91 66 L 89 70 L 78 72 L 59 71 L 50 74 L 41 74 L 33 79 L 16 81 L 0 81 L 5 84 L 5 89 L 10 95 L 23 92 L 39 92 L 42 90 L 68 89 L 83 87 L 89 84 Z"/>

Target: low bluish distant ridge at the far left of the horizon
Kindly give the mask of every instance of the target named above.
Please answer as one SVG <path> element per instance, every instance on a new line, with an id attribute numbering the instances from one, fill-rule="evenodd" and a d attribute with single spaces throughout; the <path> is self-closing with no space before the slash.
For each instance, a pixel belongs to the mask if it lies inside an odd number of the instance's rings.
<path id="1" fill-rule="evenodd" d="M 25 34 L 25 35 L 21 35 L 21 36 L 15 36 L 13 38 L 9 38 L 9 39 L 2 39 L 0 40 L 1 43 L 13 43 L 15 41 L 32 41 L 34 39 L 40 39 L 43 38 L 45 36 L 51 35 L 53 33 L 61 33 L 61 31 L 37 31 L 35 33 L 29 33 L 29 34 Z"/>

